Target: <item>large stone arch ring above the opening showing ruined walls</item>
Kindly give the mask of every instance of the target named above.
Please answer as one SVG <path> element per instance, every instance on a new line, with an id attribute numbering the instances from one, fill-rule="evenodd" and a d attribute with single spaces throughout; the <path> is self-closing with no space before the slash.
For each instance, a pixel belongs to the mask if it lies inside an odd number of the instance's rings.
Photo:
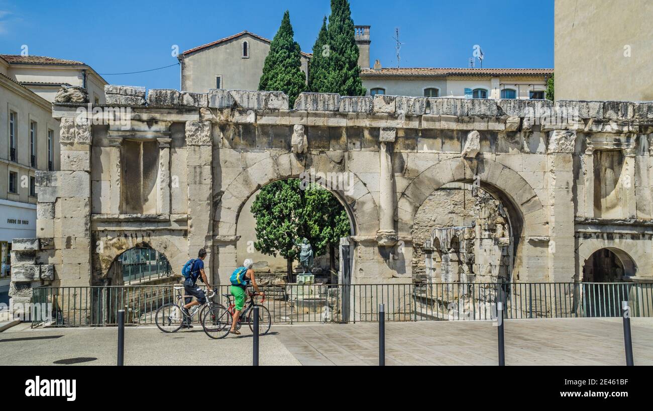
<path id="1" fill-rule="evenodd" d="M 453 158 L 440 161 L 424 170 L 402 191 L 397 204 L 400 233 L 409 235 L 415 214 L 426 198 L 438 188 L 451 182 L 479 182 L 481 189 L 502 202 L 516 234 L 514 278 L 529 280 L 528 270 L 537 265 L 548 271 L 546 245 L 549 223 L 545 207 L 535 190 L 522 176 L 509 167 L 479 157 L 477 159 Z M 518 235 L 517 235 L 518 233 Z M 533 244 L 539 246 L 535 247 Z M 419 246 L 420 244 L 415 244 Z M 528 252 L 525 250 L 529 247 Z M 537 250 L 539 249 L 539 250 Z M 525 259 L 530 261 L 525 261 Z M 538 276 L 542 276 L 539 272 Z"/>

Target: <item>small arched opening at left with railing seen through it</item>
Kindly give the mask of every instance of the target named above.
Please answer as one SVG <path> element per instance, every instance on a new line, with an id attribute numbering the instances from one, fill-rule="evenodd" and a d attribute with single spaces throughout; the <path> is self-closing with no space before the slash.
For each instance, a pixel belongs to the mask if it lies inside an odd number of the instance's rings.
<path id="1" fill-rule="evenodd" d="M 167 257 L 150 246 L 136 246 L 122 252 L 112 263 L 108 286 L 125 286 L 158 281 L 172 275 Z"/>

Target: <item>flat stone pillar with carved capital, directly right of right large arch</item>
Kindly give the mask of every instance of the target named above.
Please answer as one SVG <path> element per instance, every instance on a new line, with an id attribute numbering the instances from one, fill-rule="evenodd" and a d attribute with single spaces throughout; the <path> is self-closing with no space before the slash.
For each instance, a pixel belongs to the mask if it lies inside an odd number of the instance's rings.
<path id="1" fill-rule="evenodd" d="M 528 281 L 573 281 L 574 206 L 573 206 L 573 152 L 575 131 L 552 131 L 549 135 L 549 276 L 529 272 Z"/>

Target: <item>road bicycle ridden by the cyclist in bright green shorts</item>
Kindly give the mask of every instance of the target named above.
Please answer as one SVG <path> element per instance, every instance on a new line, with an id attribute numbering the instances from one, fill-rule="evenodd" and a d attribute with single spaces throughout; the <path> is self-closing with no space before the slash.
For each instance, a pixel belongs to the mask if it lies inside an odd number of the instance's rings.
<path id="1" fill-rule="evenodd" d="M 266 335 L 270 331 L 272 326 L 272 316 L 270 316 L 270 311 L 263 304 L 265 301 L 265 294 L 263 294 L 263 299 L 261 304 L 257 304 L 254 297 L 257 293 L 247 293 L 249 295 L 249 301 L 247 306 L 240 312 L 238 317 L 238 323 L 236 323 L 236 330 L 239 330 L 242 327 L 243 323 L 249 325 L 249 329 L 254 332 L 254 307 L 259 307 L 259 335 Z M 233 315 L 236 312 L 236 304 L 231 301 L 231 294 L 223 294 L 224 297 L 227 297 L 227 308 L 223 305 L 214 306 L 210 310 L 204 313 L 202 317 L 202 327 L 204 328 L 204 333 L 211 338 L 216 340 L 220 338 L 225 338 L 229 335 L 229 330 L 231 330 L 231 324 L 233 322 Z"/>

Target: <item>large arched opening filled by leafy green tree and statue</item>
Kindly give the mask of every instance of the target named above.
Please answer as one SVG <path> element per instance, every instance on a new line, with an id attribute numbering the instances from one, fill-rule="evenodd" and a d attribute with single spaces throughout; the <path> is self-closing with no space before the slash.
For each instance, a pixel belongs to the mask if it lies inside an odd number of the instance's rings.
<path id="1" fill-rule="evenodd" d="M 341 195 L 353 182 L 339 179 L 340 174 L 327 173 L 314 182 L 276 180 L 253 193 L 236 221 L 237 263 L 252 259 L 264 285 L 293 283 L 305 272 L 313 275 L 314 284 L 334 284 L 340 266 L 340 237 L 355 234 L 353 214 Z M 310 272 L 298 261 L 301 245 L 295 243 L 303 238 L 313 251 Z M 289 252 L 291 248 L 295 251 Z"/>

